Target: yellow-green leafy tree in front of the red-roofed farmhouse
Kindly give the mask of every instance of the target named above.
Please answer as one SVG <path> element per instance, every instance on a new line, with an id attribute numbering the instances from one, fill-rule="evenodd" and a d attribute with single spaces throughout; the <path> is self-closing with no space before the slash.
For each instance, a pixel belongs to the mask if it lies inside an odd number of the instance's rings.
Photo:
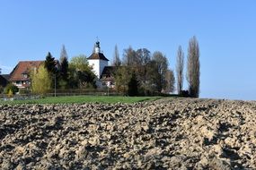
<path id="1" fill-rule="evenodd" d="M 47 68 L 40 65 L 38 71 L 31 71 L 31 89 L 34 94 L 46 94 L 51 89 L 52 80 Z"/>

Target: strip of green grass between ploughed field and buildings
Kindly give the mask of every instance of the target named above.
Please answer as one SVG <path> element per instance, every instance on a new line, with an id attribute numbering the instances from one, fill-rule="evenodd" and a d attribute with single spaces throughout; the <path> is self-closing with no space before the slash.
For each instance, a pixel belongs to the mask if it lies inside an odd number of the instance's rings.
<path id="1" fill-rule="evenodd" d="M 114 96 L 70 96 L 70 97 L 47 97 L 40 99 L 0 101 L 1 104 L 64 104 L 64 103 L 136 103 L 153 101 L 162 97 L 114 97 Z"/>

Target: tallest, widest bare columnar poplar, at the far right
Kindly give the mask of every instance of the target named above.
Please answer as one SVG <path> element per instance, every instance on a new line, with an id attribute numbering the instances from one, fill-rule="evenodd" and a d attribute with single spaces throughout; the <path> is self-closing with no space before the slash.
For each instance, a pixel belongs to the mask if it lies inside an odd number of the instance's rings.
<path id="1" fill-rule="evenodd" d="M 188 49 L 187 81 L 189 83 L 190 96 L 199 98 L 200 85 L 199 42 L 194 36 L 190 38 Z"/>

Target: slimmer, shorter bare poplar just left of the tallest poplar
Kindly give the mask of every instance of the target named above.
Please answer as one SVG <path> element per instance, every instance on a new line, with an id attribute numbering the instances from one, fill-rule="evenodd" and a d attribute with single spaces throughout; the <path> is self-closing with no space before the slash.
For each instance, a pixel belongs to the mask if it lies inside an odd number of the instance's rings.
<path id="1" fill-rule="evenodd" d="M 181 94 L 181 90 L 183 88 L 183 78 L 184 78 L 183 69 L 184 69 L 184 52 L 182 51 L 181 46 L 179 46 L 178 52 L 177 52 L 177 64 L 176 64 L 178 94 Z"/>

